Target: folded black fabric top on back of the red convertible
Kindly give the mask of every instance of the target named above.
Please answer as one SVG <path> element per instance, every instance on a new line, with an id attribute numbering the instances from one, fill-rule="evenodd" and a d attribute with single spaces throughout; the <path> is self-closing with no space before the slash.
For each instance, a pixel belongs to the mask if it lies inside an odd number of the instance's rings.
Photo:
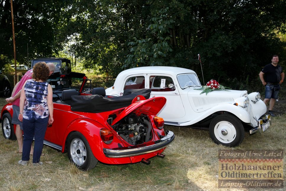
<path id="1" fill-rule="evenodd" d="M 123 96 L 119 97 L 103 97 L 101 95 L 72 96 L 70 108 L 72 111 L 101 113 L 127 107 L 138 95 L 149 99 L 150 94 L 151 89 L 127 89 L 124 91 Z"/>

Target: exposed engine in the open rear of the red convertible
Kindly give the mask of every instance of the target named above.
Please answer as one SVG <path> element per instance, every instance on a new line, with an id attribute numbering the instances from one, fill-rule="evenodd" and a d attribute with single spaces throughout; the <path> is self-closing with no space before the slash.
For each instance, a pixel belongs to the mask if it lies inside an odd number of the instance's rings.
<path id="1" fill-rule="evenodd" d="M 152 138 L 152 126 L 147 115 L 131 113 L 111 127 L 130 145 L 140 145 Z"/>

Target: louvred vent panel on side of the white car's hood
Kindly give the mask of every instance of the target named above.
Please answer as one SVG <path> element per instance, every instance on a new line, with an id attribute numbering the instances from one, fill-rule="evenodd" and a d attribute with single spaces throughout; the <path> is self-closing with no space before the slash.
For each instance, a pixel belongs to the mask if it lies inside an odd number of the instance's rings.
<path id="1" fill-rule="evenodd" d="M 195 107 L 234 102 L 232 97 L 193 97 Z"/>

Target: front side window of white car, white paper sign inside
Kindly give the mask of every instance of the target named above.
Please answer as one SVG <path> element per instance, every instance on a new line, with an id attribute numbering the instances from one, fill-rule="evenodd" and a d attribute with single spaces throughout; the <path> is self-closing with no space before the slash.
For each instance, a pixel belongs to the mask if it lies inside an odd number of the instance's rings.
<path id="1" fill-rule="evenodd" d="M 174 82 L 169 76 L 150 76 L 149 88 L 153 92 L 170 92 L 175 91 Z"/>

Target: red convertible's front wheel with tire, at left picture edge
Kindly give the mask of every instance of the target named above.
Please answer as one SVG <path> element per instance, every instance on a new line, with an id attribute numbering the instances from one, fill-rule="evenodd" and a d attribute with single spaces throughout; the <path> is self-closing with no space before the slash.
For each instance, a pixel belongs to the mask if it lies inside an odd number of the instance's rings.
<path id="1" fill-rule="evenodd" d="M 5 113 L 2 117 L 2 133 L 5 139 L 16 139 L 14 125 L 12 124 L 12 117 L 10 113 Z"/>

